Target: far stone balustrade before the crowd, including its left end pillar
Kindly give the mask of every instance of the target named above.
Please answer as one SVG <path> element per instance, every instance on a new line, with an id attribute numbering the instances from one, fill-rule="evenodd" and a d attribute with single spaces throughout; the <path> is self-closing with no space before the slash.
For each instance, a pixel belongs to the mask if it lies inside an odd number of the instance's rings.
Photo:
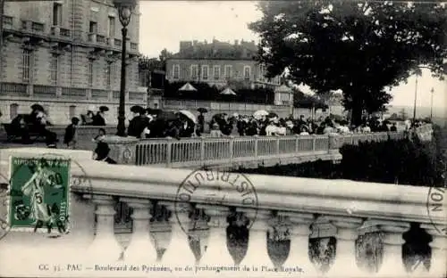
<path id="1" fill-rule="evenodd" d="M 398 140 L 404 132 L 350 135 L 287 135 L 145 139 L 109 137 L 111 157 L 119 164 L 168 168 L 245 168 L 262 164 L 299 163 L 316 159 L 339 160 L 343 144 Z"/>

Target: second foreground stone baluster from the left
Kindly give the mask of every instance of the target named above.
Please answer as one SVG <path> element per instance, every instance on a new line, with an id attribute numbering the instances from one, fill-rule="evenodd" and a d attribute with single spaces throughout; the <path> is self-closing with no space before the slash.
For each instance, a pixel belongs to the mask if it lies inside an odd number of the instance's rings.
<path id="1" fill-rule="evenodd" d="M 150 200 L 122 198 L 121 201 L 126 202 L 129 207 L 133 208 L 131 242 L 124 252 L 124 260 L 151 264 L 156 261 L 156 249 L 149 234 Z"/>

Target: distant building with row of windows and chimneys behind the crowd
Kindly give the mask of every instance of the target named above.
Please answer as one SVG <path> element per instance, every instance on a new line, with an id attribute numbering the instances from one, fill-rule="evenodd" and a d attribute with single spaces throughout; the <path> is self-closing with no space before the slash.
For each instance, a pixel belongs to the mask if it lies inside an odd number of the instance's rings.
<path id="1" fill-rule="evenodd" d="M 254 41 L 234 41 L 234 44 L 214 40 L 212 43 L 181 41 L 180 52 L 166 61 L 169 82 L 203 82 L 225 87 L 233 82 L 255 89 L 281 85 L 280 77 L 266 78 L 266 65 L 255 60 Z M 281 102 L 291 102 L 291 94 L 282 91 Z M 275 97 L 276 99 L 276 97 Z M 279 102 L 279 101 L 278 101 Z"/>

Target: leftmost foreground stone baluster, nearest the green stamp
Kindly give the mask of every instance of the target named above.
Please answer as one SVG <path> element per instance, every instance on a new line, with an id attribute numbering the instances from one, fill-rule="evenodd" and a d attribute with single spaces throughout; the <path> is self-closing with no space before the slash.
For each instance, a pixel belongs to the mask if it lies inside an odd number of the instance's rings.
<path id="1" fill-rule="evenodd" d="M 89 247 L 89 258 L 114 262 L 122 255 L 122 246 L 114 236 L 115 201 L 105 195 L 93 195 L 92 201 L 97 205 L 97 234 Z"/>

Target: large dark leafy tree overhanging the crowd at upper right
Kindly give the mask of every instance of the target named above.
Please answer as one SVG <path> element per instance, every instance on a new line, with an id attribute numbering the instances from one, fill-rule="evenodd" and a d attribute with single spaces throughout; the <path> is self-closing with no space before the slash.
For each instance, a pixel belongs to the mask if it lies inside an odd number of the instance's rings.
<path id="1" fill-rule="evenodd" d="M 358 125 L 364 110 L 384 110 L 397 86 L 429 67 L 445 74 L 444 4 L 347 1 L 261 2 L 263 18 L 249 25 L 259 33 L 257 59 L 274 77 L 289 78 L 317 94 L 342 90 L 343 105 Z"/>

